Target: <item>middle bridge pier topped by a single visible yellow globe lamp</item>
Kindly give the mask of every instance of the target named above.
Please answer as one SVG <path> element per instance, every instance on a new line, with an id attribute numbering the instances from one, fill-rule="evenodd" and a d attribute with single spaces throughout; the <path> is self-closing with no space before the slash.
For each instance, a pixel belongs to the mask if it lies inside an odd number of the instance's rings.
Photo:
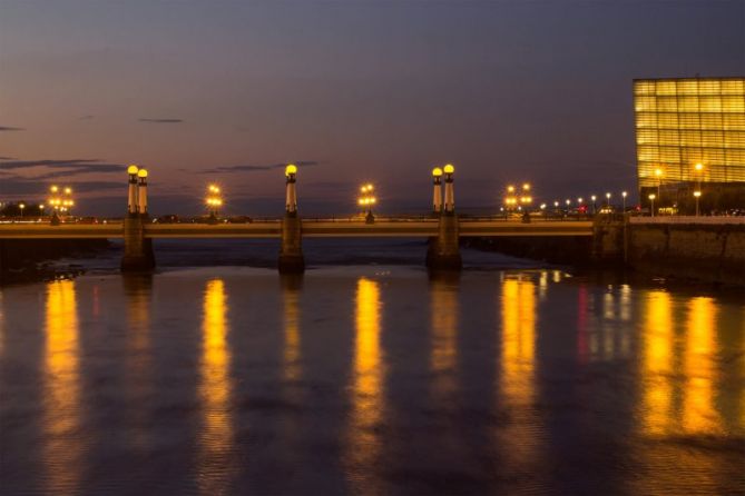
<path id="1" fill-rule="evenodd" d="M 303 257 L 303 229 L 297 215 L 297 194 L 295 192 L 297 167 L 288 165 L 285 169 L 286 200 L 285 216 L 282 219 L 282 246 L 277 268 L 280 274 L 302 274 L 305 271 Z"/>

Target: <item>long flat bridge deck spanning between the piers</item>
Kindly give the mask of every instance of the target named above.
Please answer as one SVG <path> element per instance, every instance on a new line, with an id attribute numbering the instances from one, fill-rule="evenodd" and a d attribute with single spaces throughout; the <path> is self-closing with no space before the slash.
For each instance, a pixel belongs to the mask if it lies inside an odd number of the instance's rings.
<path id="1" fill-rule="evenodd" d="M 356 237 L 431 237 L 438 235 L 438 221 L 432 220 L 382 220 L 375 224 L 357 221 L 303 220 L 303 237 L 307 238 L 356 238 Z M 121 224 L 50 226 L 42 224 L 0 225 L 0 239 L 53 239 L 53 238 L 121 238 Z M 280 220 L 253 224 L 148 224 L 148 238 L 280 238 Z M 592 236 L 591 221 L 533 221 L 522 224 L 506 220 L 460 221 L 460 236 Z"/>

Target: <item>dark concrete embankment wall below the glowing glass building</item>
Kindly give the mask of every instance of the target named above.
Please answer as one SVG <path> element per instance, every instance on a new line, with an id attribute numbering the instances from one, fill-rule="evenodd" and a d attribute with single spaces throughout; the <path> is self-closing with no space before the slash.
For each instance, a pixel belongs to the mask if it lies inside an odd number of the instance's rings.
<path id="1" fill-rule="evenodd" d="M 745 218 L 631 218 L 626 260 L 660 277 L 745 286 Z"/>

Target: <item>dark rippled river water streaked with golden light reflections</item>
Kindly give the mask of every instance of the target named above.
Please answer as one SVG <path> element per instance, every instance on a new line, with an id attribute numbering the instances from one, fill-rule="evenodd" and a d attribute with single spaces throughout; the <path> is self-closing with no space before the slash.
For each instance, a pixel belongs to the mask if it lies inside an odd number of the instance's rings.
<path id="1" fill-rule="evenodd" d="M 228 246 L 0 289 L 0 493 L 745 494 L 742 294 Z"/>

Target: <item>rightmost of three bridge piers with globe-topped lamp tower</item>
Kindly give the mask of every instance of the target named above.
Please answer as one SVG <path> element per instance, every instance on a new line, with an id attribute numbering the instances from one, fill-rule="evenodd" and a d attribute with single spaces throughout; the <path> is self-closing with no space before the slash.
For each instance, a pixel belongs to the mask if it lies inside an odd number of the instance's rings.
<path id="1" fill-rule="evenodd" d="M 430 238 L 427 250 L 427 267 L 430 270 L 460 270 L 463 267 L 463 260 L 460 256 L 458 216 L 455 215 L 455 197 L 453 191 L 454 170 L 455 169 L 450 163 L 444 167 L 444 209 L 440 214 L 438 237 Z M 435 175 L 435 178 L 437 177 L 438 176 Z"/>

